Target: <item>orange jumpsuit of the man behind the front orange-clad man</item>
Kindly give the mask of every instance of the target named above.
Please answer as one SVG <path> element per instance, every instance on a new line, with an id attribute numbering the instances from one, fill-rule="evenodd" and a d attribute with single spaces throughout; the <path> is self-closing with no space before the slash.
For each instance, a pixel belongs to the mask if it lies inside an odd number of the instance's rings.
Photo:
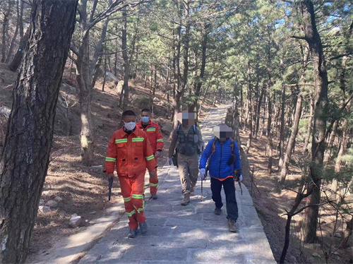
<path id="1" fill-rule="evenodd" d="M 163 150 L 164 147 L 164 141 L 163 141 L 163 136 L 162 133 L 160 132 L 160 126 L 152 121 L 148 122 L 148 126 L 146 128 L 143 128 L 142 121 L 137 124 L 137 127 L 140 128 L 142 131 L 145 131 L 145 133 L 148 136 L 148 140 L 150 140 L 150 145 L 153 151 L 153 155 L 155 155 L 155 152 L 157 150 Z M 157 158 L 155 157 L 155 160 L 157 162 Z M 155 179 L 150 179 L 150 193 L 151 194 L 157 194 L 157 185 L 158 185 L 158 178 L 157 178 L 157 167 L 155 169 Z"/>

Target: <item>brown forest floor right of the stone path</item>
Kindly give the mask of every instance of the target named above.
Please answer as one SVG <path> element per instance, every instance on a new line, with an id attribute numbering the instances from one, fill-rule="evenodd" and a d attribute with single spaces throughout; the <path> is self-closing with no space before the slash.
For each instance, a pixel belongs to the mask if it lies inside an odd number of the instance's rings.
<path id="1" fill-rule="evenodd" d="M 245 149 L 248 140 L 248 133 L 239 131 L 241 136 L 241 145 Z M 249 167 L 253 175 L 253 183 L 251 179 L 244 179 L 244 184 L 249 188 L 249 192 L 253 197 L 255 208 L 258 216 L 261 219 L 265 234 L 268 237 L 273 255 L 277 261 L 280 260 L 282 248 L 285 241 L 285 224 L 287 215 L 285 210 L 291 210 L 294 204 L 297 193 L 289 190 L 281 190 L 279 188 L 280 173 L 276 172 L 278 167 L 279 154 L 275 147 L 277 146 L 274 140 L 273 146 L 273 173 L 267 174 L 268 157 L 265 155 L 267 140 L 265 137 L 258 136 L 253 139 L 251 148 L 247 158 Z M 301 145 L 299 144 L 294 153 L 293 159 L 301 157 Z M 297 156 L 297 157 L 296 157 Z M 286 179 L 288 188 L 296 190 L 301 171 L 298 167 L 289 166 L 289 172 Z M 305 201 L 303 201 L 304 205 Z M 300 208 L 300 207 L 299 207 Z M 289 263 L 325 263 L 325 252 L 330 252 L 328 263 L 353 263 L 353 239 L 349 239 L 348 248 L 338 248 L 342 231 L 346 228 L 342 221 L 337 222 L 335 227 L 335 210 L 324 207 L 320 210 L 320 218 L 318 225 L 318 241 L 316 244 L 303 244 L 301 239 L 301 223 L 303 221 L 304 212 L 295 215 L 292 218 L 290 246 L 287 252 L 287 260 Z M 320 226 L 322 233 L 320 232 Z M 335 228 L 335 231 L 334 231 Z"/>

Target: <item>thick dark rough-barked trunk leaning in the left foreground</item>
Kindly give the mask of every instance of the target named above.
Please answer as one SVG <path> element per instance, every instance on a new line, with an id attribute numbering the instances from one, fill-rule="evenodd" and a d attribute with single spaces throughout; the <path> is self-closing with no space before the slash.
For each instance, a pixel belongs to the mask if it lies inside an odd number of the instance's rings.
<path id="1" fill-rule="evenodd" d="M 30 45 L 13 90 L 0 162 L 0 263 L 25 263 L 28 254 L 76 5 L 77 1 L 32 1 Z"/>

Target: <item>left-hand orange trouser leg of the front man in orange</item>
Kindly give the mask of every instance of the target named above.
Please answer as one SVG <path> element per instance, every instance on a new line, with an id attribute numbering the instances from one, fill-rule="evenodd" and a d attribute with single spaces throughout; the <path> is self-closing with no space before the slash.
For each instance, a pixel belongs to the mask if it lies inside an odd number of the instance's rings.
<path id="1" fill-rule="evenodd" d="M 128 176 L 119 176 L 121 195 L 124 199 L 126 215 L 128 215 L 128 227 L 130 229 L 138 229 L 136 210 L 131 201 L 131 192 L 133 181 Z"/>

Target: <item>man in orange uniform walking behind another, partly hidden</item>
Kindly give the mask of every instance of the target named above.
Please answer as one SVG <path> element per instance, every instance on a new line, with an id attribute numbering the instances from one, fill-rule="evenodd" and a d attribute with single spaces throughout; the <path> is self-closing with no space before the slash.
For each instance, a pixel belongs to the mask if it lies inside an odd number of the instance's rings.
<path id="1" fill-rule="evenodd" d="M 143 109 L 141 111 L 141 121 L 137 124 L 137 127 L 140 130 L 145 131 L 148 136 L 148 140 L 150 140 L 150 145 L 153 151 L 153 155 L 155 155 L 155 160 L 157 162 L 157 158 L 162 156 L 162 150 L 164 147 L 164 141 L 162 133 L 160 132 L 160 126 L 157 123 L 151 121 L 151 112 L 149 109 Z M 155 168 L 155 177 L 150 177 L 150 193 L 152 199 L 157 199 L 157 167 Z"/>

